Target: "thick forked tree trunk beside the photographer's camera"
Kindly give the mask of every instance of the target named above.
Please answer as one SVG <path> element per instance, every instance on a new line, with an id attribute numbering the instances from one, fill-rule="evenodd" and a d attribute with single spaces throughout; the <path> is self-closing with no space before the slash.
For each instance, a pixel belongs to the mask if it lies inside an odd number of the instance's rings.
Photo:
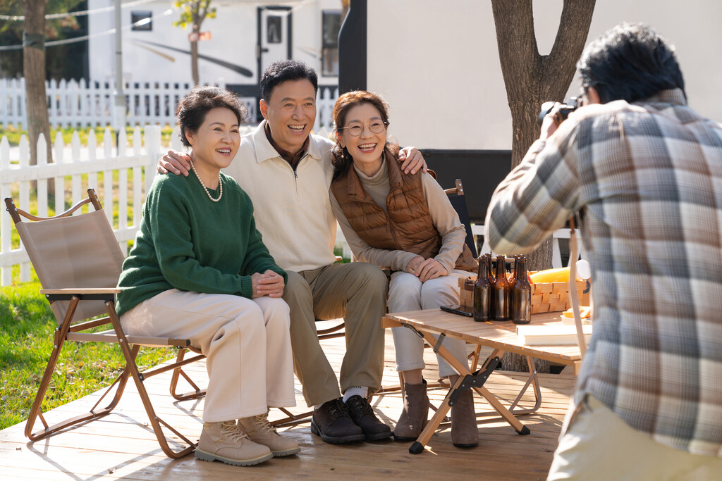
<path id="1" fill-rule="evenodd" d="M 591 24 L 595 0 L 564 0 L 557 37 L 548 56 L 539 55 L 531 0 L 492 0 L 497 45 L 511 110 L 511 165 L 516 167 L 539 138 L 539 110 L 547 100 L 563 101 Z M 529 254 L 531 270 L 552 267 L 552 239 Z M 526 358 L 505 353 L 503 369 L 528 371 Z M 549 363 L 536 360 L 537 372 Z"/>

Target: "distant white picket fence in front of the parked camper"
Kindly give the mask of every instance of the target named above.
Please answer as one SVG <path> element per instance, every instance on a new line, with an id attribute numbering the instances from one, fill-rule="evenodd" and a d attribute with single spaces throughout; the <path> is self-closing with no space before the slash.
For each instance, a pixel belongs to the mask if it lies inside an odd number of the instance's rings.
<path id="1" fill-rule="evenodd" d="M 51 126 L 105 128 L 112 125 L 116 111 L 114 85 L 87 82 L 85 79 L 46 81 Z M 219 84 L 219 87 L 225 85 Z M 175 107 L 190 89 L 191 84 L 126 83 L 123 92 L 126 95 L 126 125 L 174 125 Z M 314 131 L 319 131 L 321 127 L 330 129 L 331 114 L 338 97 L 339 89 L 336 87 L 319 87 Z M 240 100 L 248 109 L 248 117 L 253 123 L 258 109 L 256 99 L 240 97 Z M 0 125 L 7 128 L 11 124 L 18 129 L 27 125 L 25 79 L 0 79 Z"/>

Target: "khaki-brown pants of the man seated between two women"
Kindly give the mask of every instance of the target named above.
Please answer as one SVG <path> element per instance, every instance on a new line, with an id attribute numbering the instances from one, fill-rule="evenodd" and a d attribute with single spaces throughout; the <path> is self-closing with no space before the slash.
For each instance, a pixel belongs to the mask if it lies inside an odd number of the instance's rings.
<path id="1" fill-rule="evenodd" d="M 283 299 L 291 312 L 293 366 L 308 406 L 334 400 L 353 386 L 377 390 L 383 374 L 386 275 L 378 265 L 366 262 L 287 273 Z M 344 318 L 346 332 L 342 391 L 316 332 L 316 319 L 339 317 Z"/>

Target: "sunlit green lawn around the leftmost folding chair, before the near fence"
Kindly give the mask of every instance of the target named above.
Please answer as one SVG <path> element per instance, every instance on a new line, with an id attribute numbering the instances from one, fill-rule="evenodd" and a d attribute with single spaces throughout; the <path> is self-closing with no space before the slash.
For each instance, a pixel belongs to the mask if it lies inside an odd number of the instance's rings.
<path id="1" fill-rule="evenodd" d="M 27 419 L 53 349 L 56 320 L 39 289 L 37 278 L 0 288 L 0 429 Z M 172 348 L 142 348 L 137 363 L 144 369 L 173 356 Z M 110 385 L 123 366 L 118 345 L 66 343 L 43 411 Z"/>

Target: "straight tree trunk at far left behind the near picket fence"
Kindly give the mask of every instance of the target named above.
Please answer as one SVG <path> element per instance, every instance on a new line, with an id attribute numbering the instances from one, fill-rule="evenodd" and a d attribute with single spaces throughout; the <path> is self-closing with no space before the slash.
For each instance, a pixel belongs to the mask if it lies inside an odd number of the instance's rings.
<path id="1" fill-rule="evenodd" d="M 25 32 L 22 70 L 25 76 L 27 139 L 30 141 L 30 164 L 38 163 L 38 136 L 47 141 L 48 162 L 53 162 L 48 96 L 45 93 L 45 9 L 47 0 L 22 0 Z M 53 184 L 54 185 L 54 184 Z"/>

